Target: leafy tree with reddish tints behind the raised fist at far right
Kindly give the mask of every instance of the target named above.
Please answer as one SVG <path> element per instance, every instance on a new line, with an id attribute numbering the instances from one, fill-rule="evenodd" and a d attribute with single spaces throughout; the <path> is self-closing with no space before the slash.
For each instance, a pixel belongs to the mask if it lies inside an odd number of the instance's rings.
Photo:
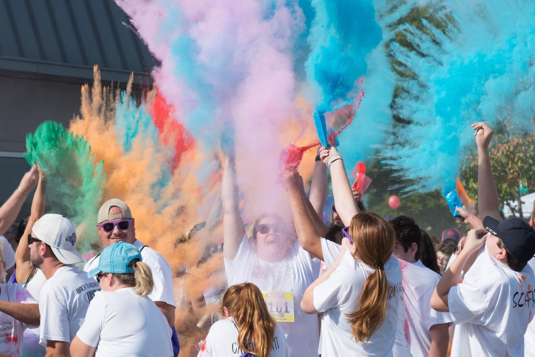
<path id="1" fill-rule="evenodd" d="M 515 216 L 524 218 L 519 186 L 535 189 L 535 141 L 533 134 L 515 128 L 509 118 L 498 117 L 490 147 L 491 167 L 502 207 L 507 206 Z M 461 176 L 468 195 L 477 199 L 477 149 L 464 158 Z M 518 202 L 518 208 L 515 207 Z"/>

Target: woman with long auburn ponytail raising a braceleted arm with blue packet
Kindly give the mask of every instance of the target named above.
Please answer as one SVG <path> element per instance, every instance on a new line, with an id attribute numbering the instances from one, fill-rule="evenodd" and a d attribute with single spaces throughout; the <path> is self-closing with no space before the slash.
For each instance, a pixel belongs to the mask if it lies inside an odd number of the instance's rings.
<path id="1" fill-rule="evenodd" d="M 376 214 L 358 214 L 335 147 L 322 148 L 320 159 L 331 169 L 337 212 L 349 226 L 342 230 L 338 260 L 307 288 L 301 308 L 309 314 L 324 313 L 322 355 L 392 356 L 403 307 L 401 268 L 392 255 L 394 230 Z"/>

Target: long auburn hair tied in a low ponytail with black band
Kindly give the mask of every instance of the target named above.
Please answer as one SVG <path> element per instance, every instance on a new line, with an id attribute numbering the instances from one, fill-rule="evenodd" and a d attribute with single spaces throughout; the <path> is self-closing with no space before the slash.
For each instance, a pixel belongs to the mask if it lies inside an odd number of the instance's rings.
<path id="1" fill-rule="evenodd" d="M 388 301 L 388 281 L 384 264 L 395 245 L 392 225 L 375 213 L 362 213 L 351 219 L 349 235 L 353 238 L 358 259 L 375 271 L 366 278 L 356 312 L 347 314 L 351 336 L 365 343 L 383 324 Z"/>

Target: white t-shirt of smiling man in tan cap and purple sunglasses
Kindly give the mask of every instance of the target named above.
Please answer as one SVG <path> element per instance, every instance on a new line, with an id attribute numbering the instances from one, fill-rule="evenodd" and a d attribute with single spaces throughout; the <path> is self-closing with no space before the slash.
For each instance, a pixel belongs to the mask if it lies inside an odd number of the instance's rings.
<path id="1" fill-rule="evenodd" d="M 135 240 L 134 246 L 141 250 L 144 244 L 139 240 Z M 152 280 L 154 280 L 154 288 L 149 294 L 149 298 L 152 301 L 163 301 L 171 306 L 175 306 L 171 265 L 167 263 L 162 254 L 159 254 L 149 246 L 146 246 L 141 250 L 141 258 L 143 263 L 149 265 L 150 270 L 152 271 Z M 98 267 L 99 259 L 100 254 L 91 258 L 86 265 L 84 265 L 83 271 L 89 272 L 91 269 Z"/>

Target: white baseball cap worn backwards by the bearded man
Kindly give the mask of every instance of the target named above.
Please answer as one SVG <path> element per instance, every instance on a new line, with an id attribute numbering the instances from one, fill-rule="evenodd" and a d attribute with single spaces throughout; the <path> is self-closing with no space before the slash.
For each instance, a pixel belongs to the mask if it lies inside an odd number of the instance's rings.
<path id="1" fill-rule="evenodd" d="M 52 248 L 52 252 L 63 264 L 83 262 L 76 250 L 76 228 L 67 217 L 57 214 L 44 215 L 35 222 L 32 231 L 35 238 Z"/>

